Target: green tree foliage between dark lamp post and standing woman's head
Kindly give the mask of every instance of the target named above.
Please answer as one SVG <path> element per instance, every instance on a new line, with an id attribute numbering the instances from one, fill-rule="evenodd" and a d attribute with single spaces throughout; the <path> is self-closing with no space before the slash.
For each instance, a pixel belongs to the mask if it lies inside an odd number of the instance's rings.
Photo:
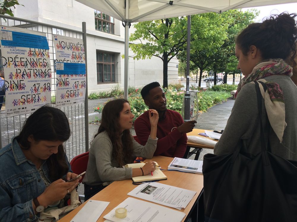
<path id="1" fill-rule="evenodd" d="M 235 37 L 238 32 L 245 28 L 257 15 L 256 11 L 241 11 L 240 9 L 232 9 L 220 14 L 205 13 L 192 16 L 191 33 L 203 35 L 206 30 L 208 33 L 208 41 L 197 40 L 192 37 L 190 61 L 200 69 L 199 86 L 201 85 L 201 77 L 203 70 L 214 70 L 214 73 L 239 73 L 237 70 L 237 60 L 234 56 Z M 209 18 L 212 21 L 209 21 Z M 197 20 L 203 20 L 205 24 L 215 32 L 201 28 L 201 24 Z M 212 24 L 215 22 L 215 25 Z M 217 26 L 217 27 L 215 27 Z M 177 55 L 181 61 L 186 61 L 186 47 Z M 194 67 L 192 66 L 192 69 Z M 216 78 L 214 78 L 216 80 Z"/>

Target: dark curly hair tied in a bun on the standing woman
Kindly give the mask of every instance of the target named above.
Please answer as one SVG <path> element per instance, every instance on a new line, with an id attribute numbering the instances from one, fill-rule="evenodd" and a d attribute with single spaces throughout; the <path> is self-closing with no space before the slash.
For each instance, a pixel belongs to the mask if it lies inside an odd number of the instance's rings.
<path id="1" fill-rule="evenodd" d="M 252 23 L 236 38 L 236 44 L 244 55 L 254 45 L 263 59 L 281 58 L 296 65 L 297 14 L 271 15 L 261 23 Z"/>

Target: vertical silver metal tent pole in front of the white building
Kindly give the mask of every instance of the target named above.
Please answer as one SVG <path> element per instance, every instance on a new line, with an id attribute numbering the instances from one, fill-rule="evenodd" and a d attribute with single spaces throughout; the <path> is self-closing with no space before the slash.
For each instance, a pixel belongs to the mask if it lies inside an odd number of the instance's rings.
<path id="1" fill-rule="evenodd" d="M 124 99 L 128 99 L 128 70 L 129 70 L 129 0 L 126 0 L 125 9 L 125 59 L 124 59 Z"/>

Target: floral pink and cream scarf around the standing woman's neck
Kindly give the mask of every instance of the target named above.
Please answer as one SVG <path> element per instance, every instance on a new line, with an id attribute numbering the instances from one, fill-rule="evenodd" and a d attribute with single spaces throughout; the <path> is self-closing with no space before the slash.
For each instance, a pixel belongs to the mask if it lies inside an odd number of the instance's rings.
<path id="1" fill-rule="evenodd" d="M 282 142 L 282 137 L 287 126 L 287 123 L 285 122 L 284 95 L 281 87 L 277 83 L 263 79 L 270 75 L 287 75 L 291 77 L 293 75 L 292 67 L 285 63 L 283 59 L 266 59 L 259 62 L 252 70 L 252 73 L 245 76 L 240 81 L 235 98 L 245 84 L 253 81 L 261 81 L 265 83 L 267 86 L 266 92 L 264 92 L 263 86 L 260 83 L 258 84 L 265 102 L 268 120 L 279 138 L 279 141 Z"/>

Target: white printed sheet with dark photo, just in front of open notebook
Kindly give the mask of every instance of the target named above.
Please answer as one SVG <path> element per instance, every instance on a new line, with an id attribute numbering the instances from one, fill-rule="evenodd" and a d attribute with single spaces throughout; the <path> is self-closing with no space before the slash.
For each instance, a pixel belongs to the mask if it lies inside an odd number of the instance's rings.
<path id="1" fill-rule="evenodd" d="M 138 197 L 168 207 L 174 207 L 178 210 L 186 208 L 195 194 L 196 191 L 157 182 L 140 184 L 128 193 L 128 195 L 132 197 Z"/>

